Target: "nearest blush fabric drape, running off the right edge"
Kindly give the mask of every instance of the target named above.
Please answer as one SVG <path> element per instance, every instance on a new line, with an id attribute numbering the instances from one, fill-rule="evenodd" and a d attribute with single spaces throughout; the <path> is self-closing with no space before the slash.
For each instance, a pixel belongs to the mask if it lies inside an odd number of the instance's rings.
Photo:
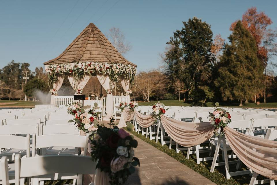
<path id="1" fill-rule="evenodd" d="M 277 141 L 249 136 L 229 127 L 223 130 L 231 149 L 249 169 L 277 180 Z"/>

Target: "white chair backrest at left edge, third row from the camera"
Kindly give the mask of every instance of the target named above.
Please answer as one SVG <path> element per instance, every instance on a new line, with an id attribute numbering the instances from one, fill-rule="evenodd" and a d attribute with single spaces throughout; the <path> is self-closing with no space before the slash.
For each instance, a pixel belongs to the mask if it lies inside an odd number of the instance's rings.
<path id="1" fill-rule="evenodd" d="M 3 125 L 0 129 L 1 135 L 10 135 L 10 134 L 33 134 L 35 133 L 38 136 L 39 133 L 39 124 L 37 125 Z"/>

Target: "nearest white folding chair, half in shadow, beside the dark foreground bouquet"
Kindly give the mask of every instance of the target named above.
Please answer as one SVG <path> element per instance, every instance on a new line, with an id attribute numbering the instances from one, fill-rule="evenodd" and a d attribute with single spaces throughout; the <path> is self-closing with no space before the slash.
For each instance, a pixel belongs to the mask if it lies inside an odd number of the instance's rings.
<path id="1" fill-rule="evenodd" d="M 83 174 L 95 174 L 96 163 L 88 156 L 35 156 L 25 159 L 16 156 L 15 185 L 23 185 L 25 177 L 32 177 L 33 184 L 45 180 L 74 179 L 77 185 L 82 185 Z"/>

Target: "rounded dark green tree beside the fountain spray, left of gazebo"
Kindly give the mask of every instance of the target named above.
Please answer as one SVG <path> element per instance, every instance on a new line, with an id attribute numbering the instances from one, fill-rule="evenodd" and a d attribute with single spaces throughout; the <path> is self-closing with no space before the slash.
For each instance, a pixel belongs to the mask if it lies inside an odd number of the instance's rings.
<path id="1" fill-rule="evenodd" d="M 24 86 L 24 92 L 29 97 L 35 96 L 34 92 L 36 90 L 40 90 L 42 92 L 47 92 L 47 91 L 49 91 L 49 87 L 46 82 L 44 82 L 42 79 L 38 79 L 38 78 L 31 79 Z"/>

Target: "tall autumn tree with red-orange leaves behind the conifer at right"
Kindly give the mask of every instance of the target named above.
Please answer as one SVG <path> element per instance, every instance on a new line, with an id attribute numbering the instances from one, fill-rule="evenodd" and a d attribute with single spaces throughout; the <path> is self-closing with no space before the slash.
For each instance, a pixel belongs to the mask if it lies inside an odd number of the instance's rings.
<path id="1" fill-rule="evenodd" d="M 264 67 L 264 88 L 263 88 L 263 96 L 264 103 L 266 102 L 266 67 L 268 62 L 268 49 L 265 47 L 263 40 L 268 34 L 267 27 L 272 24 L 271 19 L 264 12 L 257 12 L 256 7 L 249 8 L 242 15 L 242 25 L 251 33 L 254 37 L 257 45 L 257 57 L 262 62 Z M 230 30 L 233 31 L 237 21 L 231 24 Z M 255 96 L 256 99 L 256 96 Z"/>

